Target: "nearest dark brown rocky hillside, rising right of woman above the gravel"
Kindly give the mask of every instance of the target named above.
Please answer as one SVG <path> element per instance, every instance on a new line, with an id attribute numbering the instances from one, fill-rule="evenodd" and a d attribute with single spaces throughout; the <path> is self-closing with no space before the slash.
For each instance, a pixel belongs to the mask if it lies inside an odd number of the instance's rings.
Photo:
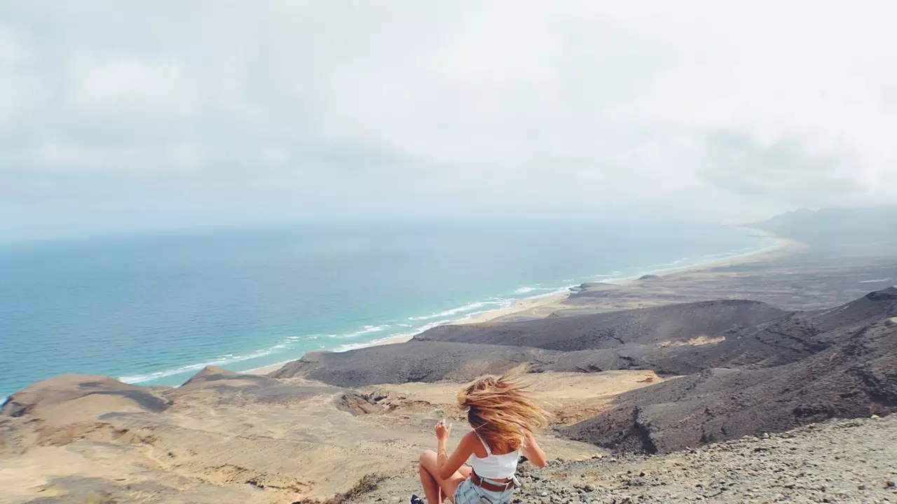
<path id="1" fill-rule="evenodd" d="M 830 418 L 897 409 L 897 327 L 878 322 L 790 364 L 707 369 L 622 395 L 609 412 L 566 428 L 607 448 L 668 453 Z"/>

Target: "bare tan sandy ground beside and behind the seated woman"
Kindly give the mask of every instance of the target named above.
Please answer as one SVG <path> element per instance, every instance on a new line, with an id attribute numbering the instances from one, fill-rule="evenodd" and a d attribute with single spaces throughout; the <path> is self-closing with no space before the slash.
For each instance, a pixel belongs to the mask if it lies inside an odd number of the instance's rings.
<path id="1" fill-rule="evenodd" d="M 353 393 L 301 378 L 264 378 L 257 388 L 252 378 L 261 378 L 241 376 L 227 387 L 218 379 L 149 390 L 171 401 L 162 412 L 122 395 L 71 398 L 83 378 L 54 382 L 33 395 L 37 405 L 27 414 L 0 417 L 0 502 L 79 491 L 99 492 L 109 502 L 151 501 L 140 500 L 144 493 L 175 503 L 325 500 L 365 474 L 414 477 L 418 454 L 435 448 L 432 427 L 441 418 L 454 419 L 455 439 L 466 431 L 456 383 Z M 653 371 L 532 375 L 540 402 L 559 424 L 594 415 L 614 395 L 662 379 Z M 359 414 L 345 407 L 347 394 L 379 400 Z M 538 439 L 551 456 L 569 460 L 598 451 L 551 430 Z"/>

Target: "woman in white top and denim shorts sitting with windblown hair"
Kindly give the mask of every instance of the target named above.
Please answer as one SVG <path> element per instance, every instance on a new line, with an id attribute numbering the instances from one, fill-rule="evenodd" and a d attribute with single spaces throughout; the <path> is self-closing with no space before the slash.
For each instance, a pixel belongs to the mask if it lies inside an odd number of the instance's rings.
<path id="1" fill-rule="evenodd" d="M 437 451 L 427 450 L 420 458 L 421 483 L 429 504 L 441 504 L 443 496 L 455 504 L 505 504 L 514 491 L 520 455 L 545 466 L 545 454 L 533 430 L 547 424 L 547 415 L 518 381 L 520 374 L 515 369 L 501 378 L 479 378 L 458 391 L 458 405 L 467 410 L 467 422 L 474 430 L 448 456 L 451 424 L 444 420 L 436 424 Z M 462 467 L 468 458 L 471 467 Z M 419 504 L 421 499 L 415 495 L 411 502 Z"/>

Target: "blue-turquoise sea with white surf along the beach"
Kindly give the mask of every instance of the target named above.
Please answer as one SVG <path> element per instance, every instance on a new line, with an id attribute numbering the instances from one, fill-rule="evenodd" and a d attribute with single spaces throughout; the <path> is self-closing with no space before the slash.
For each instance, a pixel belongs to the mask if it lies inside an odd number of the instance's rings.
<path id="1" fill-rule="evenodd" d="M 0 398 L 63 373 L 177 385 L 581 282 L 769 248 L 679 222 L 367 222 L 0 245 Z"/>

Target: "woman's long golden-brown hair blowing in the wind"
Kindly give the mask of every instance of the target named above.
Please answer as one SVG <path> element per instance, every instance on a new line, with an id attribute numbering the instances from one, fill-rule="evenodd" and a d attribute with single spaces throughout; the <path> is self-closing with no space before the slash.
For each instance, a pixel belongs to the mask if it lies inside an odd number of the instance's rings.
<path id="1" fill-rule="evenodd" d="M 520 448 L 523 434 L 544 428 L 548 413 L 536 405 L 518 367 L 501 377 L 477 378 L 457 392 L 457 404 L 467 410 L 467 421 L 490 449 L 507 453 Z"/>

